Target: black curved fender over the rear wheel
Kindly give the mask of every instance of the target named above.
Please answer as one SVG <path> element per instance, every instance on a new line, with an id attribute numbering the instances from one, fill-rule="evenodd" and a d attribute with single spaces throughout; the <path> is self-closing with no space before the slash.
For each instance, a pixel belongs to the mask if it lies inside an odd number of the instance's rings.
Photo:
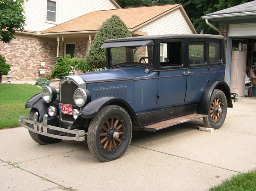
<path id="1" fill-rule="evenodd" d="M 223 81 L 213 81 L 207 85 L 207 88 L 205 88 L 205 91 L 196 107 L 197 113 L 207 114 L 208 106 L 210 106 L 211 95 L 215 89 L 223 91 L 227 99 L 228 107 L 233 107 L 228 84 Z"/>

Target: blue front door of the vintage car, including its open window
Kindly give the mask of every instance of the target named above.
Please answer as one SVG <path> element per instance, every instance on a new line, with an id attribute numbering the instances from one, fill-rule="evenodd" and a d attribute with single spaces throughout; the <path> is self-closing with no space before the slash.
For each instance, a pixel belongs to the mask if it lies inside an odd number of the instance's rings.
<path id="1" fill-rule="evenodd" d="M 159 41 L 157 108 L 184 103 L 187 85 L 185 47 L 184 40 Z"/>

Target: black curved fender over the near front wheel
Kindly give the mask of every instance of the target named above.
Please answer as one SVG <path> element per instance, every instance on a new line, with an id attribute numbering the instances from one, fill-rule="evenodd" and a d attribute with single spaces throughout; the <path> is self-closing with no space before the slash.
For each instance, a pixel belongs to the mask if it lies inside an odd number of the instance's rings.
<path id="1" fill-rule="evenodd" d="M 90 103 L 88 103 L 82 110 L 81 117 L 85 119 L 94 118 L 103 109 L 103 107 L 107 105 L 123 107 L 132 119 L 132 125 L 137 128 L 143 128 L 132 107 L 126 101 L 118 97 L 98 97 L 90 101 Z"/>

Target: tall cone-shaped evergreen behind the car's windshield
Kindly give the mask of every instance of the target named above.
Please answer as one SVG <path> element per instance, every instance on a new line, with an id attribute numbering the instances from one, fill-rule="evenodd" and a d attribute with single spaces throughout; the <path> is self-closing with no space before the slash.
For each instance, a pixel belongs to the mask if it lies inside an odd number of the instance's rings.
<path id="1" fill-rule="evenodd" d="M 117 15 L 112 15 L 111 18 L 103 22 L 99 31 L 95 35 L 93 44 L 86 57 L 86 63 L 92 68 L 106 67 L 106 50 L 100 48 L 105 40 L 113 38 L 131 37 L 126 24 Z"/>

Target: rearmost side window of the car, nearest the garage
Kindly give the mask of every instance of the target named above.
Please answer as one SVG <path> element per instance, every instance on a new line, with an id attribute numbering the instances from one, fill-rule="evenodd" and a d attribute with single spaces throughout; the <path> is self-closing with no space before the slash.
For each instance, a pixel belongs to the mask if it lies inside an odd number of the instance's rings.
<path id="1" fill-rule="evenodd" d="M 209 62 L 210 64 L 220 63 L 221 60 L 221 42 L 210 41 L 209 43 Z"/>

